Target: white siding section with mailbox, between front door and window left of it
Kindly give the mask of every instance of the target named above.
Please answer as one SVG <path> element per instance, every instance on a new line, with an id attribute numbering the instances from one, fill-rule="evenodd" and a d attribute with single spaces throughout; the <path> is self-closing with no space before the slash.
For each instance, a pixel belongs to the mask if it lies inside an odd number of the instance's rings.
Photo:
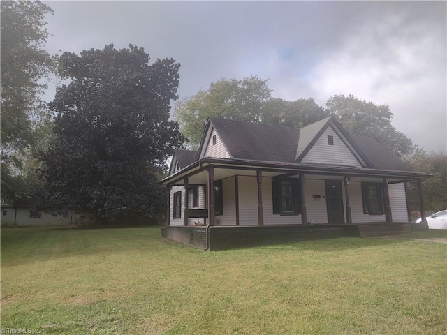
<path id="1" fill-rule="evenodd" d="M 319 200 L 314 199 L 320 195 Z M 307 221 L 315 224 L 328 223 L 328 211 L 326 210 L 325 181 L 321 179 L 305 179 L 305 201 Z"/>

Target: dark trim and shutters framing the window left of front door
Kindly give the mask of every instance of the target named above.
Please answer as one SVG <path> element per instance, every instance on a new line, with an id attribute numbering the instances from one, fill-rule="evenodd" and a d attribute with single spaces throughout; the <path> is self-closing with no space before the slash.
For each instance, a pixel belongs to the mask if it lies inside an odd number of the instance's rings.
<path id="1" fill-rule="evenodd" d="M 293 211 L 284 211 L 283 185 L 291 183 L 293 191 Z M 272 209 L 273 214 L 281 216 L 297 216 L 302 213 L 300 179 L 298 178 L 272 178 Z"/>

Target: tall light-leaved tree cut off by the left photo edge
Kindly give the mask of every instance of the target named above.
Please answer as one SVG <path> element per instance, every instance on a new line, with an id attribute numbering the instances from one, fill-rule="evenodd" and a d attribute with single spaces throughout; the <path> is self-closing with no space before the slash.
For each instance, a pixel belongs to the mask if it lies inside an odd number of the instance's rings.
<path id="1" fill-rule="evenodd" d="M 45 15 L 40 1 L 1 1 L 1 199 L 29 195 L 36 178 L 32 149 L 42 135 L 47 110 L 40 94 L 54 71 L 44 50 Z M 37 141 L 37 142 L 36 142 Z M 30 182 L 31 181 L 31 182 Z"/>

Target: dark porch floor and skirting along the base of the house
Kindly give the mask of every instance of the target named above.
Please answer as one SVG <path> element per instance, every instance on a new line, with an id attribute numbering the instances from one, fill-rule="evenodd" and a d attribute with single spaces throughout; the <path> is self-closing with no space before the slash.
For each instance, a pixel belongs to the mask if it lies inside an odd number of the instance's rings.
<path id="1" fill-rule="evenodd" d="M 406 234 L 411 229 L 411 223 L 167 226 L 161 228 L 161 235 L 188 246 L 218 251 L 312 239 Z"/>

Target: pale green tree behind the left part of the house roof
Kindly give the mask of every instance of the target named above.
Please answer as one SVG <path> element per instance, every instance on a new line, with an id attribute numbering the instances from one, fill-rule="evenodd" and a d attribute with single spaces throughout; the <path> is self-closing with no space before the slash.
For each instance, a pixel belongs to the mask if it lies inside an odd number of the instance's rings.
<path id="1" fill-rule="evenodd" d="M 197 149 L 208 117 L 261 122 L 263 104 L 270 99 L 270 94 L 267 80 L 257 76 L 222 79 L 206 91 L 179 101 L 174 110 L 175 119 L 189 146 Z"/>

